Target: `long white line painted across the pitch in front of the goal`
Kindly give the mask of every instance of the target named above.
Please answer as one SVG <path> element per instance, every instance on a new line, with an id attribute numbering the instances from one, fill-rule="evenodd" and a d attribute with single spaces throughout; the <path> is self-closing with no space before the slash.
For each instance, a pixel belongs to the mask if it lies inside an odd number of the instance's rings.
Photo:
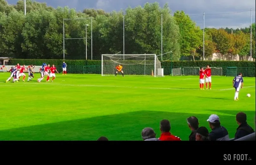
<path id="1" fill-rule="evenodd" d="M 19 83 L 19 82 L 16 82 Z M 27 82 L 24 82 L 23 84 L 30 84 Z M 158 87 L 125 87 L 125 86 L 107 86 L 107 85 L 74 85 L 74 84 L 54 84 L 51 82 L 47 83 L 40 83 L 38 85 L 61 85 L 61 86 L 80 86 L 80 87 L 116 87 L 116 88 L 137 88 L 137 89 L 155 89 L 155 90 L 199 90 L 199 89 L 186 89 L 186 88 L 158 88 Z M 38 85 L 30 85 L 32 87 L 38 87 Z M 2 86 L 10 86 L 10 85 L 2 85 Z M 19 85 L 19 86 L 26 86 L 27 85 Z M 249 87 L 255 87 L 255 86 L 249 86 Z M 244 87 L 244 88 L 249 88 Z M 234 90 L 234 88 L 230 89 L 223 89 L 223 90 Z M 214 91 L 223 91 L 223 90 L 214 90 Z"/>

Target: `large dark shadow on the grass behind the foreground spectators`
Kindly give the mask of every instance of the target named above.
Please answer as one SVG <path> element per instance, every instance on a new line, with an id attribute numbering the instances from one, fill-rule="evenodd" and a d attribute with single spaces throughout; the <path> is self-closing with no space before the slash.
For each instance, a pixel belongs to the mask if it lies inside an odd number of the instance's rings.
<path id="1" fill-rule="evenodd" d="M 109 140 L 142 140 L 141 131 L 145 127 L 152 127 L 159 137 L 159 123 L 162 119 L 171 121 L 171 132 L 174 135 L 188 140 L 190 129 L 186 118 L 191 115 L 194 114 L 137 111 L 1 130 L 0 140 L 97 140 L 100 136 L 106 136 Z M 209 128 L 206 122 L 209 115 L 195 115 L 200 126 Z M 232 130 L 231 135 L 235 134 L 237 125 L 234 116 L 219 116 L 229 132 Z"/>

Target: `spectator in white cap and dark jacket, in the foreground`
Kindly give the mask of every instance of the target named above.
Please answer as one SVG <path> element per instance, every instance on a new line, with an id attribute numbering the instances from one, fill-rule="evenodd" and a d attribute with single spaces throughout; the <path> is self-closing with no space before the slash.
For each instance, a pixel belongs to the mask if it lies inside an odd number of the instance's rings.
<path id="1" fill-rule="evenodd" d="M 211 132 L 209 133 L 209 140 L 211 141 L 229 141 L 228 130 L 220 125 L 220 118 L 218 115 L 210 115 L 209 126 L 211 128 Z"/>

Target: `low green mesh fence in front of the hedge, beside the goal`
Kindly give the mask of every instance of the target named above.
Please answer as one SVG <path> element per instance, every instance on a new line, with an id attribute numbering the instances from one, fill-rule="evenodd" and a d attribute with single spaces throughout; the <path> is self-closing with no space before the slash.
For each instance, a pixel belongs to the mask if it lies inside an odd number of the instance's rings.
<path id="1" fill-rule="evenodd" d="M 59 72 L 62 72 L 62 66 L 56 67 Z M 164 75 L 171 75 L 172 71 L 177 70 L 177 68 L 179 70 L 178 75 L 199 75 L 199 67 L 163 66 L 162 68 L 164 68 Z M 237 68 L 237 73 L 239 72 L 241 72 L 244 77 L 256 77 L 255 68 Z M 67 73 L 101 74 L 101 66 L 67 66 Z M 229 76 L 227 75 L 227 67 L 212 67 L 212 75 Z"/>

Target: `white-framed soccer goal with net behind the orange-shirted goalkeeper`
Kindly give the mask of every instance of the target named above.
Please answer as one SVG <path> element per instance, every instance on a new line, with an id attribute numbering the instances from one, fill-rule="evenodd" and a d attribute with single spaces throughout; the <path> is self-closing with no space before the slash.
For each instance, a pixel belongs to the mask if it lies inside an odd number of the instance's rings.
<path id="1" fill-rule="evenodd" d="M 123 66 L 124 75 L 164 76 L 156 54 L 102 54 L 102 76 L 115 75 L 118 65 Z"/>

